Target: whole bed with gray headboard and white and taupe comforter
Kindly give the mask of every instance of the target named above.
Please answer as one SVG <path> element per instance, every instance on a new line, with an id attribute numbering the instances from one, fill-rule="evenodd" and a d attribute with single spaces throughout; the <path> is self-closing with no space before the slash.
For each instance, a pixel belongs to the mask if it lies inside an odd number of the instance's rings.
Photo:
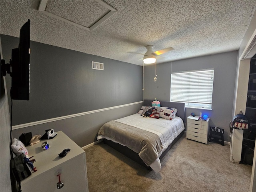
<path id="1" fill-rule="evenodd" d="M 151 106 L 152 101 L 144 100 L 143 106 Z M 175 117 L 169 120 L 167 118 L 143 118 L 142 114 L 132 114 L 104 124 L 98 132 L 97 140 L 103 139 L 104 143 L 140 165 L 159 172 L 161 170 L 160 160 L 184 134 L 185 129 L 183 123 L 185 104 L 161 101 L 160 103 L 161 109 L 177 109 Z M 159 109 L 159 107 L 156 108 Z"/>

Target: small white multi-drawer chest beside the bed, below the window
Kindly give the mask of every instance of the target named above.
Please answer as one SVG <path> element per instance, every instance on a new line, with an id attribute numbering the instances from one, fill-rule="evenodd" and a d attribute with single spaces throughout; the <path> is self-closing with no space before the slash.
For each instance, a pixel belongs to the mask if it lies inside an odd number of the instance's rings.
<path id="1" fill-rule="evenodd" d="M 199 116 L 188 116 L 187 118 L 187 139 L 192 139 L 198 142 L 207 144 L 209 121 L 198 120 Z"/>

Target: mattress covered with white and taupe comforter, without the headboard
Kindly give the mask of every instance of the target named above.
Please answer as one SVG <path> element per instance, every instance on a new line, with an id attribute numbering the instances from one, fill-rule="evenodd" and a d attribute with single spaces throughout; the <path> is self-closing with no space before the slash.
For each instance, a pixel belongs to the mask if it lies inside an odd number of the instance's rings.
<path id="1" fill-rule="evenodd" d="M 97 140 L 105 138 L 130 148 L 139 154 L 147 166 L 159 172 L 160 155 L 184 129 L 179 117 L 166 120 L 133 114 L 104 124 Z"/>

